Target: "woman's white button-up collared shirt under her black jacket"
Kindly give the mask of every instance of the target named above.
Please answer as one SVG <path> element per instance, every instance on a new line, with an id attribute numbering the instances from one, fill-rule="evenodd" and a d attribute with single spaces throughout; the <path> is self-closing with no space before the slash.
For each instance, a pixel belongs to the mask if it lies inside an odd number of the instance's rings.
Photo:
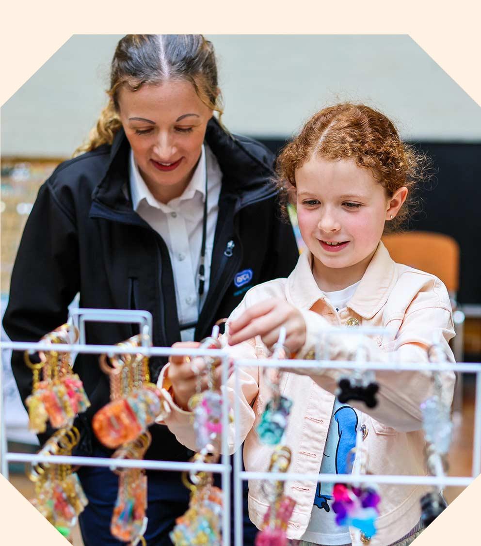
<path id="1" fill-rule="evenodd" d="M 169 249 L 174 272 L 177 314 L 183 324 L 197 322 L 209 290 L 210 266 L 217 224 L 222 171 L 209 146 L 203 145 L 192 179 L 180 197 L 160 203 L 153 197 L 130 150 L 130 194 L 135 212 L 161 235 Z M 199 265 L 207 171 L 207 230 L 204 294 L 199 296 Z M 181 330 L 182 341 L 194 339 L 195 328 Z"/>

